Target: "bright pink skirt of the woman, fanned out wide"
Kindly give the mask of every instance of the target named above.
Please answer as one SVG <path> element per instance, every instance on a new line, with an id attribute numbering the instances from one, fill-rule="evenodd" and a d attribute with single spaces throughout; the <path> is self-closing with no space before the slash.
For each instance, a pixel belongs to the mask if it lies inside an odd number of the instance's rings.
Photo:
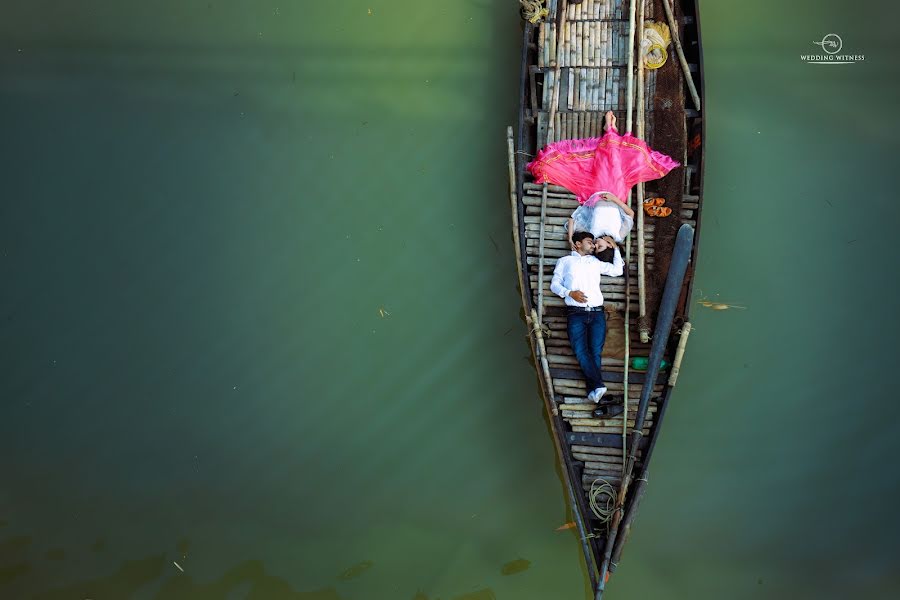
<path id="1" fill-rule="evenodd" d="M 678 165 L 630 133 L 619 135 L 610 127 L 602 138 L 550 144 L 528 164 L 528 170 L 535 183 L 561 185 L 584 204 L 600 191 L 612 192 L 625 202 L 636 183 L 659 179 Z"/>

